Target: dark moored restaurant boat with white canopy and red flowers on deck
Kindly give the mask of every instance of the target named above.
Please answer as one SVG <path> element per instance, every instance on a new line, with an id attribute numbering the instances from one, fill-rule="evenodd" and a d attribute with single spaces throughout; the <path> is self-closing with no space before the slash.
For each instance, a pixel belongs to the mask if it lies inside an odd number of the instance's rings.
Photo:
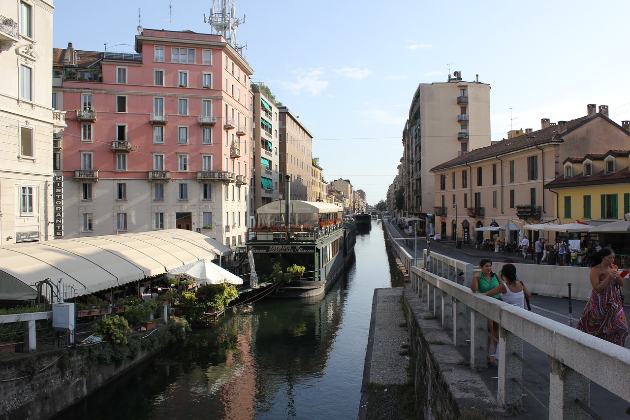
<path id="1" fill-rule="evenodd" d="M 324 293 L 343 272 L 354 253 L 356 229 L 341 221 L 342 209 L 309 201 L 276 201 L 256 210 L 256 228 L 248 235 L 247 250 L 260 276 L 301 265 L 304 273 L 278 286 L 272 296 L 305 298 Z M 264 278 L 264 277 L 263 277 Z"/>

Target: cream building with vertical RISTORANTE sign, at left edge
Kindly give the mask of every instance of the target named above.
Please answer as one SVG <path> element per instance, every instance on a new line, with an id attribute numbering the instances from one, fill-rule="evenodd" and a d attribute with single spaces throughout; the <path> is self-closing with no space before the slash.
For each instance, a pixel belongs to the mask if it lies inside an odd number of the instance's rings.
<path id="1" fill-rule="evenodd" d="M 63 235 L 52 149 L 66 123 L 50 96 L 53 9 L 49 0 L 5 0 L 0 9 L 0 245 Z"/>

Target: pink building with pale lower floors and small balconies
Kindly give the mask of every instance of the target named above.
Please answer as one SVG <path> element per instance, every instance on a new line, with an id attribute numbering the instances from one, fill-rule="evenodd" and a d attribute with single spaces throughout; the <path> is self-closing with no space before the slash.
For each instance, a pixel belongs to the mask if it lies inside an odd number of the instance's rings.
<path id="1" fill-rule="evenodd" d="M 54 49 L 64 235 L 183 228 L 243 243 L 251 67 L 221 35 L 144 29 L 135 51 Z"/>

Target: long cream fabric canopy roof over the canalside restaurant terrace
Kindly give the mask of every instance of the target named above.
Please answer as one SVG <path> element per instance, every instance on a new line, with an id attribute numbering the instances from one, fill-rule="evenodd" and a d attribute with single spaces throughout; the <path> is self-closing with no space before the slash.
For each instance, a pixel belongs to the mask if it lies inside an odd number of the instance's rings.
<path id="1" fill-rule="evenodd" d="M 0 296 L 32 299 L 44 279 L 61 279 L 77 296 L 88 295 L 214 259 L 217 244 L 183 229 L 14 243 L 0 247 Z"/>

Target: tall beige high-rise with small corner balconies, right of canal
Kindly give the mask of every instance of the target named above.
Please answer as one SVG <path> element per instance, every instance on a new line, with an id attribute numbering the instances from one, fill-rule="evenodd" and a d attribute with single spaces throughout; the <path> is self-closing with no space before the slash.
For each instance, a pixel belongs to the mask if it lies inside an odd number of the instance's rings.
<path id="1" fill-rule="evenodd" d="M 490 85 L 464 81 L 455 71 L 446 82 L 420 83 L 403 129 L 403 216 L 433 211 L 435 184 L 429 169 L 490 145 Z"/>

